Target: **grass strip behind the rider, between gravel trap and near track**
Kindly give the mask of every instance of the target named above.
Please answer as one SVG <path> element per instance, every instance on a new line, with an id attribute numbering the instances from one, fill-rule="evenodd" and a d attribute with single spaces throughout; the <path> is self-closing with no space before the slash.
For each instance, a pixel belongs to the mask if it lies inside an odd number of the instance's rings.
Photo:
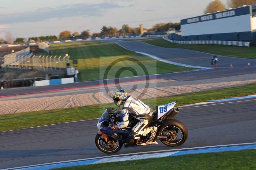
<path id="1" fill-rule="evenodd" d="M 154 107 L 156 105 L 163 105 L 172 101 L 177 101 L 176 106 L 182 106 L 209 100 L 245 96 L 250 94 L 256 94 L 255 83 L 233 88 L 147 99 L 143 100 L 143 102 Z M 0 115 L 0 131 L 99 118 L 103 113 L 101 107 L 103 107 L 103 110 L 105 110 L 105 107 L 115 107 L 115 105 L 113 103 L 108 103 L 102 105 L 90 105 L 86 107 L 62 108 L 55 110 Z"/>

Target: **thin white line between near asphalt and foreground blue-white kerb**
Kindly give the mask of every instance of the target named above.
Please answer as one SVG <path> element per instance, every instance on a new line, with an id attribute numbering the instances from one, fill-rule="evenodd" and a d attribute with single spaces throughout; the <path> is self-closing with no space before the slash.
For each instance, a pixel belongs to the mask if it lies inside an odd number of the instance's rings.
<path id="1" fill-rule="evenodd" d="M 143 154 L 143 153 L 156 153 L 156 152 L 168 152 L 168 151 L 204 149 L 204 148 L 225 147 L 225 146 L 251 145 L 251 144 L 256 144 L 256 142 L 253 142 L 253 143 L 242 143 L 242 144 L 224 144 L 224 145 L 202 146 L 202 147 L 193 147 L 193 148 L 168 149 L 168 150 L 161 150 L 161 151 L 148 151 L 148 152 L 126 153 L 126 154 L 111 155 L 111 156 L 102 156 L 102 157 L 95 157 L 95 158 L 75 159 L 75 160 L 68 160 L 68 161 L 51 162 L 51 163 L 44 163 L 44 164 L 37 164 L 37 165 L 30 165 L 30 166 L 20 166 L 20 167 L 7 168 L 7 169 L 2 169 L 2 170 L 12 170 L 12 169 L 27 168 L 27 167 L 33 167 L 33 166 L 52 165 L 52 164 L 59 164 L 59 163 L 77 162 L 77 161 L 83 161 L 83 160 L 100 159 L 100 158 L 109 158 L 109 157 L 117 157 L 117 156 L 137 155 L 137 154 Z"/>

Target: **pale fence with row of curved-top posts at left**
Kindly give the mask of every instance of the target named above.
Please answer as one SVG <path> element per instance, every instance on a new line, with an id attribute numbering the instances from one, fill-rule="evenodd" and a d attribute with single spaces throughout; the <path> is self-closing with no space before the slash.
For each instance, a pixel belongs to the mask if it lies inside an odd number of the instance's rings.
<path id="1" fill-rule="evenodd" d="M 3 68 L 34 69 L 46 72 L 65 72 L 69 56 L 53 55 L 19 55 L 8 56 L 8 59 L 1 65 Z M 11 62 L 10 62 L 11 61 Z"/>

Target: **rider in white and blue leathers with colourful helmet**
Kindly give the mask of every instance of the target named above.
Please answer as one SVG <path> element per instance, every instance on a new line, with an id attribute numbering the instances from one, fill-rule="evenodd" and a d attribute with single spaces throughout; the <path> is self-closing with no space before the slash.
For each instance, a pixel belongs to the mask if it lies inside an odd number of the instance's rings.
<path id="1" fill-rule="evenodd" d="M 112 126 L 112 129 L 122 129 L 129 124 L 129 115 L 139 120 L 132 128 L 130 133 L 131 138 L 139 139 L 141 136 L 146 136 L 151 132 L 149 140 L 144 144 L 157 144 L 152 139 L 156 136 L 157 127 L 148 127 L 153 119 L 152 109 L 134 96 L 128 96 L 124 89 L 118 90 L 113 95 L 115 104 L 120 107 L 123 105 L 121 114 L 122 121 Z"/>

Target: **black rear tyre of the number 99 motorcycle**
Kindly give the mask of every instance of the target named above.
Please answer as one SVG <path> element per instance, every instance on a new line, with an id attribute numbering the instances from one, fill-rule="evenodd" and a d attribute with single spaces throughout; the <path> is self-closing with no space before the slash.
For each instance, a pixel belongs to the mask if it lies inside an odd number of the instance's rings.
<path id="1" fill-rule="evenodd" d="M 188 129 L 186 128 L 186 126 L 176 119 L 169 119 L 165 120 L 163 125 L 160 126 L 160 128 L 158 129 L 158 133 L 161 135 L 163 129 L 169 126 L 174 126 L 180 129 L 180 131 L 182 132 L 182 139 L 178 143 L 169 143 L 165 139 L 162 139 L 160 141 L 167 146 L 179 146 L 181 144 L 184 144 L 184 142 L 186 142 L 186 140 L 188 139 Z"/>

